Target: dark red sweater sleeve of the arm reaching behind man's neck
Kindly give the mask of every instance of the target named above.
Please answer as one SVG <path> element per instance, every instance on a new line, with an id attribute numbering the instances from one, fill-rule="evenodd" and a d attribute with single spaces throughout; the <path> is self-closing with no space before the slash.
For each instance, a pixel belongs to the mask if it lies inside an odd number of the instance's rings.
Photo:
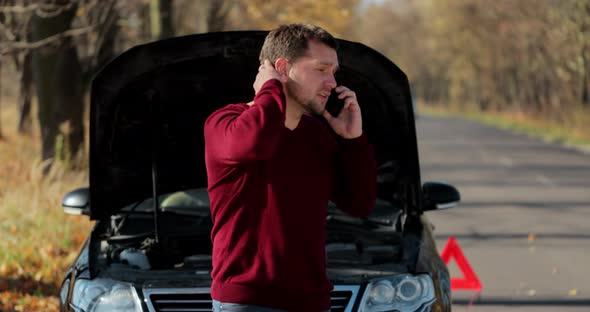
<path id="1" fill-rule="evenodd" d="M 254 105 L 215 111 L 205 122 L 210 155 L 226 164 L 270 158 L 285 127 L 285 110 L 283 86 L 271 79 L 254 97 Z"/>

